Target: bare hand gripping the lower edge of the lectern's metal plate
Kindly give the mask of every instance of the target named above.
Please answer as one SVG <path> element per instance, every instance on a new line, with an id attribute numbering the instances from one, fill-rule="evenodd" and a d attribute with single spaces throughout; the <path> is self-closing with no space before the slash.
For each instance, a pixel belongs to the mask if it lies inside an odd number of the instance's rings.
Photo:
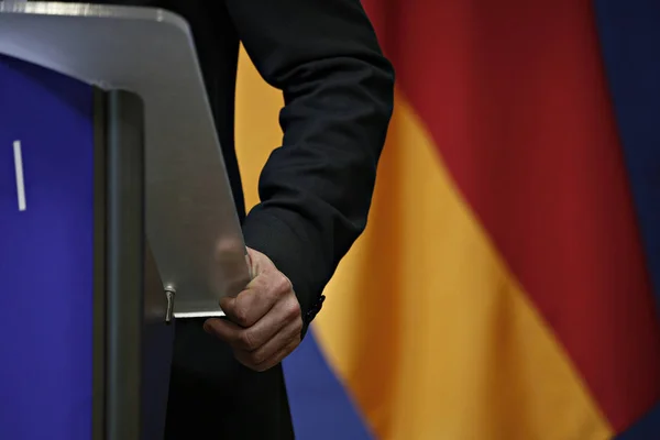
<path id="1" fill-rule="evenodd" d="M 289 279 L 261 252 L 248 249 L 252 282 L 220 307 L 230 320 L 209 319 L 205 329 L 229 343 L 243 365 L 263 372 L 300 343 L 302 317 Z"/>

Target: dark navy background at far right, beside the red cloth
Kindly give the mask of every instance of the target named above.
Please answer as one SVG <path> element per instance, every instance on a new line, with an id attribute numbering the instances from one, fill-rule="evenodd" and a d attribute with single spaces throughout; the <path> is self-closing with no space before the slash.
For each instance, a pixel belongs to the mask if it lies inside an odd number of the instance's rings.
<path id="1" fill-rule="evenodd" d="M 596 0 L 594 4 L 656 304 L 660 305 L 660 1 Z M 618 438 L 660 439 L 660 407 Z"/>

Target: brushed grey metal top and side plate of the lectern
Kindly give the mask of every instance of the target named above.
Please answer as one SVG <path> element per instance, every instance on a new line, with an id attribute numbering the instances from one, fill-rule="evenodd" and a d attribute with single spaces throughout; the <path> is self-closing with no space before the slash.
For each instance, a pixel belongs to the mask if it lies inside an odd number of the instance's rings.
<path id="1" fill-rule="evenodd" d="M 150 8 L 0 3 L 0 54 L 103 89 L 146 110 L 146 226 L 175 316 L 218 316 L 249 282 L 245 246 L 186 22 Z M 54 146 L 56 147 L 56 146 Z"/>

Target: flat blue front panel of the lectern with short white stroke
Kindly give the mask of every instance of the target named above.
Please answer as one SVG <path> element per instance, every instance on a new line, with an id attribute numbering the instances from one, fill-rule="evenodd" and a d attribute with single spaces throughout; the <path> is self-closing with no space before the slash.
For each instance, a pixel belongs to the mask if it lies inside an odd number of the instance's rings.
<path id="1" fill-rule="evenodd" d="M 91 437 L 92 130 L 90 87 L 0 57 L 0 439 Z"/>

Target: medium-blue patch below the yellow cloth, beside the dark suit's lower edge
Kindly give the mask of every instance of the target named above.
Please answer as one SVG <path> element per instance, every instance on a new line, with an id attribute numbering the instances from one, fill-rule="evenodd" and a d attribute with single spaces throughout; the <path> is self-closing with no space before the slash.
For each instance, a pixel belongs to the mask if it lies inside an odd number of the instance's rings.
<path id="1" fill-rule="evenodd" d="M 370 440 L 372 436 L 328 367 L 312 331 L 284 361 L 294 428 L 299 440 Z"/>

